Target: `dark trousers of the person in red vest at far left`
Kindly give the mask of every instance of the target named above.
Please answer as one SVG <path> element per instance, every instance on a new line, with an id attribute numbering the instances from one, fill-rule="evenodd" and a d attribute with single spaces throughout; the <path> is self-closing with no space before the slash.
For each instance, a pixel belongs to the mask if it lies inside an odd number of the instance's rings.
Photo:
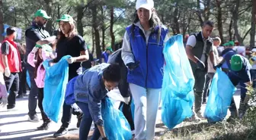
<path id="1" fill-rule="evenodd" d="M 5 86 L 8 95 L 8 107 L 15 107 L 16 102 L 16 95 L 18 94 L 19 90 L 19 75 L 18 73 L 11 73 L 9 77 L 4 76 L 5 79 Z"/>

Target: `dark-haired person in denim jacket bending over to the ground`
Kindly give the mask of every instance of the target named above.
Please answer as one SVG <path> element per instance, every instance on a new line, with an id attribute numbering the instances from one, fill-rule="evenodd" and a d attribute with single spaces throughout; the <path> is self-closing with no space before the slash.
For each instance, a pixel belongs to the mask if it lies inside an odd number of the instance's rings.
<path id="1" fill-rule="evenodd" d="M 71 92 L 74 93 L 76 104 L 84 113 L 79 129 L 80 140 L 88 138 L 92 121 L 95 129 L 91 139 L 98 139 L 100 136 L 103 140 L 107 139 L 101 116 L 101 101 L 107 96 L 107 92 L 118 86 L 119 81 L 118 64 L 99 64 L 69 81 L 67 89 L 74 88 Z"/>

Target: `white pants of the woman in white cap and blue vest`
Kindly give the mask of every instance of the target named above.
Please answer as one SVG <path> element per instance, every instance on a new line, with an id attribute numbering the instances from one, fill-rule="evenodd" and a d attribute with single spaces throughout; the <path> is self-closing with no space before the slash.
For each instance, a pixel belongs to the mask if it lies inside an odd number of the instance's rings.
<path id="1" fill-rule="evenodd" d="M 145 89 L 133 83 L 129 86 L 135 104 L 135 139 L 153 140 L 161 89 Z"/>

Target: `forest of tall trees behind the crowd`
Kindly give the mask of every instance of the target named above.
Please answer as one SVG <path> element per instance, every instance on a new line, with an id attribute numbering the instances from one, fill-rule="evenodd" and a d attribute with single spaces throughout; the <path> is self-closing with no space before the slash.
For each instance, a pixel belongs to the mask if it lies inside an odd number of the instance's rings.
<path id="1" fill-rule="evenodd" d="M 70 14 L 78 33 L 84 37 L 91 53 L 97 58 L 107 46 L 114 50 L 133 23 L 135 0 L 0 0 L 0 35 L 4 24 L 24 31 L 30 26 L 35 11 L 43 9 L 50 17 L 46 30 L 53 33 L 59 28 L 56 19 Z M 215 23 L 212 37 L 222 43 L 238 41 L 250 48 L 255 46 L 256 0 L 155 0 L 158 17 L 168 26 L 169 36 L 183 36 L 201 30 L 203 21 Z M 4 36 L 0 36 L 0 41 Z"/>

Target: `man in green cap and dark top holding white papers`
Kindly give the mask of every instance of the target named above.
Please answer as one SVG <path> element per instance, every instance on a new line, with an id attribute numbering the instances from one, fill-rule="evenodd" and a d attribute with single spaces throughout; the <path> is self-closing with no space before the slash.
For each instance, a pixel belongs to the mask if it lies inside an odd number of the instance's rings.
<path id="1" fill-rule="evenodd" d="M 47 20 L 50 18 L 51 17 L 46 14 L 46 11 L 43 10 L 38 10 L 34 14 L 32 25 L 25 32 L 27 45 L 25 57 L 27 57 L 36 44 L 43 45 L 56 42 L 56 36 L 50 36 L 50 34 L 44 29 Z M 38 92 L 36 82 L 34 81 L 34 67 L 30 66 L 30 64 L 27 64 L 26 67 L 31 82 L 30 94 L 28 96 L 28 120 L 31 122 L 38 122 L 39 120 L 36 112 Z"/>

